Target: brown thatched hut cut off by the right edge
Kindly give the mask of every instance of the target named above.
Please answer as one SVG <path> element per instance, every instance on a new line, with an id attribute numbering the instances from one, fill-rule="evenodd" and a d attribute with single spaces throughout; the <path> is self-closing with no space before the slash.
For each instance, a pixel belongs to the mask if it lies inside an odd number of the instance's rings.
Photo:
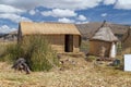
<path id="1" fill-rule="evenodd" d="M 123 35 L 122 38 L 122 48 L 124 53 L 131 53 L 131 27 L 128 32 Z"/>

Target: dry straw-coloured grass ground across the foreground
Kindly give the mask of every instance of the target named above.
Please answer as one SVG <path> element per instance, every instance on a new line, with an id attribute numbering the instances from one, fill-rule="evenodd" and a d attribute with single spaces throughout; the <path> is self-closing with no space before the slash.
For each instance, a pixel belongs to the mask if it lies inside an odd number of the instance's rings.
<path id="1" fill-rule="evenodd" d="M 74 58 L 64 59 L 72 62 Z M 97 66 L 82 58 L 73 62 L 63 71 L 32 72 L 29 75 L 14 72 L 11 65 L 0 62 L 0 87 L 131 87 L 131 73 Z"/>

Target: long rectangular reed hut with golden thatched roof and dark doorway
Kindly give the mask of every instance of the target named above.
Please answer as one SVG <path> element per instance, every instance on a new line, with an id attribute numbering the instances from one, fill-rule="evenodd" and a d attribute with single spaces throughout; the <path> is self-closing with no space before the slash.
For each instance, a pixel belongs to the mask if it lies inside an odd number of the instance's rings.
<path id="1" fill-rule="evenodd" d="M 21 22 L 19 41 L 24 36 L 43 35 L 58 52 L 79 52 L 81 34 L 74 24 Z"/>

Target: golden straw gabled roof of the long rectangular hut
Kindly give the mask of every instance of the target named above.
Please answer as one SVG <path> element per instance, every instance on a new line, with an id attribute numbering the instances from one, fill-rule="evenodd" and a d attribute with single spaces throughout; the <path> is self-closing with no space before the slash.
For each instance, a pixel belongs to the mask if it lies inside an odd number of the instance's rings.
<path id="1" fill-rule="evenodd" d="M 22 35 L 81 35 L 74 24 L 21 22 Z"/>

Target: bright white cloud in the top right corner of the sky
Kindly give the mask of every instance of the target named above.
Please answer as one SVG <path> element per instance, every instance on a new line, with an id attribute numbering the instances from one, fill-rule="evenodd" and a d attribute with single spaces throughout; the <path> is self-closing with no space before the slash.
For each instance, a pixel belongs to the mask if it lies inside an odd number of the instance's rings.
<path id="1" fill-rule="evenodd" d="M 117 0 L 115 9 L 131 10 L 131 0 Z"/>

